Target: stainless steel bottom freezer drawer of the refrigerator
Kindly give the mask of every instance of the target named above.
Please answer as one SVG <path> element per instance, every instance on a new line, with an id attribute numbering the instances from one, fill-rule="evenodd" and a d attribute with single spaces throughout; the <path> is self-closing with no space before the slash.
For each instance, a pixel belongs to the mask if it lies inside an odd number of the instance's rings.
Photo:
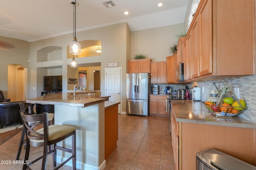
<path id="1" fill-rule="evenodd" d="M 126 100 L 126 114 L 148 116 L 148 100 Z"/>

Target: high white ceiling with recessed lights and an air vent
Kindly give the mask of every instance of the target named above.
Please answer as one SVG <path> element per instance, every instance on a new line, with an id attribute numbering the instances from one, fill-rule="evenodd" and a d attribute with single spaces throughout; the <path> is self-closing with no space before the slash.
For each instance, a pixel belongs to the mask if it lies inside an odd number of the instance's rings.
<path id="1" fill-rule="evenodd" d="M 189 0 L 77 0 L 76 31 L 127 22 L 131 31 L 183 23 Z M 163 6 L 158 7 L 162 2 Z M 73 32 L 70 0 L 0 0 L 0 36 L 36 41 Z M 128 15 L 124 12 L 128 11 Z"/>

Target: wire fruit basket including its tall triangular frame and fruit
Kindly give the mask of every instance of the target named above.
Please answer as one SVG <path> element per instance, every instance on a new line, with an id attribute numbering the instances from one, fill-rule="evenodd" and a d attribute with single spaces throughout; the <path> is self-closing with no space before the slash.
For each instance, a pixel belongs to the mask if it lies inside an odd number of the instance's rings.
<path id="1" fill-rule="evenodd" d="M 220 88 L 217 87 L 216 83 L 219 83 L 219 84 L 223 84 L 224 85 L 222 86 L 222 89 L 220 90 Z M 216 104 L 216 108 L 215 109 L 212 109 L 211 106 L 209 106 L 208 104 L 206 104 L 205 102 L 202 102 L 204 104 L 204 106 L 206 106 L 206 108 L 214 115 L 216 116 L 230 116 L 230 117 L 233 117 L 235 115 L 238 115 L 239 113 L 243 112 L 244 110 L 248 109 L 248 107 L 242 107 L 241 103 L 239 102 L 239 99 L 236 97 L 235 93 L 234 93 L 234 90 L 228 85 L 228 82 L 213 82 L 212 83 L 212 87 L 208 93 L 208 97 L 206 99 L 206 101 L 208 101 L 209 99 L 212 99 L 212 96 L 210 95 L 210 92 L 212 90 L 217 90 L 218 91 L 218 94 L 219 97 L 218 97 L 218 101 L 217 102 L 214 102 Z M 226 92 L 230 90 L 230 92 L 232 93 L 232 95 L 234 96 L 235 100 L 234 101 L 237 101 L 240 108 L 242 110 L 238 111 L 238 113 L 230 113 L 229 111 L 234 109 L 233 106 L 221 106 L 223 104 L 223 101 L 222 101 L 222 98 L 226 95 Z M 218 108 L 221 108 L 221 109 L 218 109 Z M 237 108 L 237 107 L 235 107 Z"/>

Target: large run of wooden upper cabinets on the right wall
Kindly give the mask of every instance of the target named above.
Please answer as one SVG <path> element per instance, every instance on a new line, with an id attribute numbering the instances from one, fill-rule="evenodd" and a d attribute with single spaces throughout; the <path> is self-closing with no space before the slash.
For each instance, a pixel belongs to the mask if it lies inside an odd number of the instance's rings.
<path id="1" fill-rule="evenodd" d="M 184 41 L 186 80 L 254 74 L 254 8 L 254 0 L 200 1 Z"/>

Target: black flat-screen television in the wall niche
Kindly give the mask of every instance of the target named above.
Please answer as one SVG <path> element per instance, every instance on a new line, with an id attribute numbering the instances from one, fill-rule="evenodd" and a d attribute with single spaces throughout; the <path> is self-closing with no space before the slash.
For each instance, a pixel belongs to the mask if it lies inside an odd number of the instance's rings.
<path id="1" fill-rule="evenodd" d="M 62 76 L 44 76 L 44 91 L 62 91 Z"/>

